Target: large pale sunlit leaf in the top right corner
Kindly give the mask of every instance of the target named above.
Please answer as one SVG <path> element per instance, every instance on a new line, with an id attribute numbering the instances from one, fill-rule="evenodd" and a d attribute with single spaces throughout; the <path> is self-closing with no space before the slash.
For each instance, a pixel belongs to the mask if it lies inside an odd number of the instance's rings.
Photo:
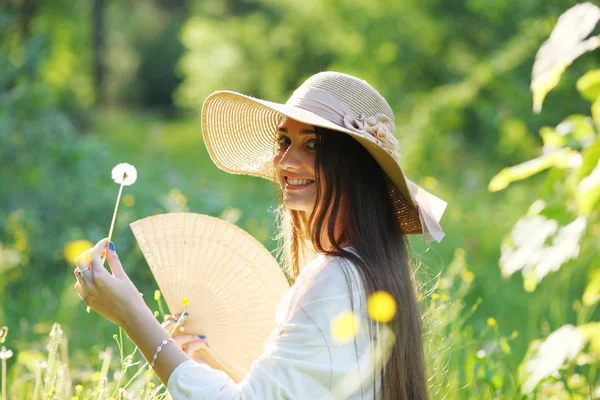
<path id="1" fill-rule="evenodd" d="M 565 11 L 535 56 L 531 75 L 533 110 L 539 113 L 548 92 L 558 85 L 565 69 L 580 55 L 600 45 L 598 37 L 587 40 L 600 20 L 600 8 L 592 3 L 578 4 Z"/>

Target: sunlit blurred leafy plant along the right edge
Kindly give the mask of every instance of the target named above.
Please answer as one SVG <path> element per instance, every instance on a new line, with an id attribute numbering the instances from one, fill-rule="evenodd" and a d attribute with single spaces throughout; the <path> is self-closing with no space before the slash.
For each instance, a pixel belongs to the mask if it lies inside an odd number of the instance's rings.
<path id="1" fill-rule="evenodd" d="M 556 86 L 566 67 L 584 51 L 598 47 L 598 39 L 582 42 L 592 43 L 587 47 L 575 43 L 575 50 L 563 47 L 569 54 L 554 54 L 557 49 L 552 50 L 552 46 L 559 46 L 559 43 L 564 46 L 565 41 L 574 37 L 577 42 L 585 39 L 599 20 L 600 8 L 591 3 L 578 5 L 560 18 L 550 40 L 538 52 L 537 70 L 534 65 L 532 90 L 537 111 L 541 110 L 545 95 Z M 540 77 L 539 65 L 552 64 L 557 59 L 559 63 Z M 564 324 L 543 341 L 530 343 L 519 373 L 521 393 L 528 397 L 586 398 L 588 394 L 597 393 L 600 330 L 598 322 L 590 320 L 598 303 L 597 262 L 600 259 L 597 235 L 589 227 L 598 226 L 600 216 L 600 125 L 594 119 L 595 103 L 600 99 L 598 71 L 583 75 L 576 86 L 581 95 L 593 103 L 592 117 L 571 115 L 556 128 L 542 128 L 544 154 L 505 168 L 488 186 L 490 191 L 501 190 L 513 181 L 552 169 L 546 178 L 546 190 L 540 196 L 541 200 L 530 207 L 528 215 L 515 225 L 510 237 L 504 241 L 500 258 L 504 275 L 510 276 L 521 270 L 525 290 L 533 292 L 545 276 L 573 260 L 570 268 L 588 272 L 590 277 L 582 300 L 574 303 L 579 325 Z M 550 204 L 549 212 L 545 212 L 546 203 Z M 559 228 L 559 221 L 564 219 L 574 221 Z M 552 244 L 548 246 L 546 242 L 550 237 Z M 587 254 L 580 257 L 580 250 L 583 250 L 581 254 Z"/>

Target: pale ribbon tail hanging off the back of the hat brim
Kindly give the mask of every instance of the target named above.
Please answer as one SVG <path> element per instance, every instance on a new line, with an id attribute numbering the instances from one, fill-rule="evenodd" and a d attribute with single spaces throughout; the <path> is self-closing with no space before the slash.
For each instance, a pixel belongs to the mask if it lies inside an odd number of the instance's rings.
<path id="1" fill-rule="evenodd" d="M 421 220 L 425 243 L 427 244 L 432 240 L 438 243 L 441 242 L 446 234 L 442 230 L 440 219 L 442 219 L 448 203 L 432 195 L 409 179 L 406 179 L 406 185 L 413 201 L 419 209 L 419 219 Z"/>

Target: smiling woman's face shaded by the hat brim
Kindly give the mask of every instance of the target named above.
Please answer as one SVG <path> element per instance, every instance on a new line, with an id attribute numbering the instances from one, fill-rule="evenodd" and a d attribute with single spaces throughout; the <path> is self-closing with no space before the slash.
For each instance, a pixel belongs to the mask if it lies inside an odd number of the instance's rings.
<path id="1" fill-rule="evenodd" d="M 315 156 L 317 137 L 312 125 L 284 118 L 277 127 L 278 151 L 273 163 L 289 210 L 311 213 L 317 197 Z"/>

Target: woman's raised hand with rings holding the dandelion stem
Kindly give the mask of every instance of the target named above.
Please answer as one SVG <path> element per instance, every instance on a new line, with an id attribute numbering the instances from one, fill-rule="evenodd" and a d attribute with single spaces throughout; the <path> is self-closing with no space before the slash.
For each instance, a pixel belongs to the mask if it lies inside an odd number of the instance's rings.
<path id="1" fill-rule="evenodd" d="M 102 265 L 101 257 L 105 252 L 112 274 Z M 75 264 L 75 290 L 92 310 L 104 318 L 123 326 L 132 313 L 148 308 L 125 273 L 114 245 L 108 248 L 108 239 L 100 240 L 92 249 L 81 253 Z"/>

